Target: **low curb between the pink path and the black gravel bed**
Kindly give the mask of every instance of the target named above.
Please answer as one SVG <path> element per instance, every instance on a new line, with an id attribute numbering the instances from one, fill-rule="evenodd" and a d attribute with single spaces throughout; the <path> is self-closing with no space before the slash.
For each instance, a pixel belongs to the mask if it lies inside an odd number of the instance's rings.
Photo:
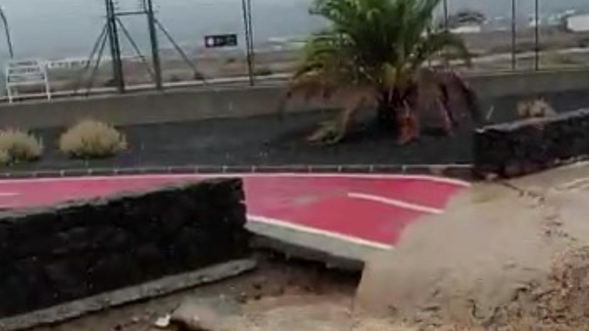
<path id="1" fill-rule="evenodd" d="M 422 174 L 474 180 L 472 164 L 340 164 L 286 166 L 181 166 L 133 168 L 79 168 L 64 170 L 6 171 L 0 178 L 59 178 L 141 174 L 252 174 L 252 173 L 382 173 Z"/>

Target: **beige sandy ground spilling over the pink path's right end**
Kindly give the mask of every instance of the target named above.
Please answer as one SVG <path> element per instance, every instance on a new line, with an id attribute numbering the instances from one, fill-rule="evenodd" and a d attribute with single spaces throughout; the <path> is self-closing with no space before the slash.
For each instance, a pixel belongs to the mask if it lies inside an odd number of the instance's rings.
<path id="1" fill-rule="evenodd" d="M 587 164 L 478 184 L 368 263 L 357 307 L 425 329 L 584 330 L 588 203 Z"/>

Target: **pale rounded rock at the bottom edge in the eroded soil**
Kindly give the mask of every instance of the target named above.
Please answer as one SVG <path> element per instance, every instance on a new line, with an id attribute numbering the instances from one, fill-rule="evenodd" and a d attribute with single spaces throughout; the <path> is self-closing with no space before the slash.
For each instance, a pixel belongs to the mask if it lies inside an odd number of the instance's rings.
<path id="1" fill-rule="evenodd" d="M 221 318 L 217 312 L 203 304 L 187 300 L 174 310 L 170 317 L 172 325 L 180 330 L 220 331 Z"/>

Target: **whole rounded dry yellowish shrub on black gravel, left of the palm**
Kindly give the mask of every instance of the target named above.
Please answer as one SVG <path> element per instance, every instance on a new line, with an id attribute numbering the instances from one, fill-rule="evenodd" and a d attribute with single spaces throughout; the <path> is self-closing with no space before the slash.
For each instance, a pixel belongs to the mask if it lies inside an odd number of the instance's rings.
<path id="1" fill-rule="evenodd" d="M 127 149 L 127 138 L 112 125 L 84 120 L 59 138 L 59 150 L 72 158 L 104 158 Z"/>

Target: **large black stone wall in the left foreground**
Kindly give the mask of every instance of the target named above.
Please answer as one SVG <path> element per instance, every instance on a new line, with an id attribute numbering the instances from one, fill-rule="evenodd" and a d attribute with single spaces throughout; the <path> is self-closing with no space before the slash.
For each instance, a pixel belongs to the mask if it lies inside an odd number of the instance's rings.
<path id="1" fill-rule="evenodd" d="M 0 214 L 0 317 L 243 256 L 241 180 Z"/>

